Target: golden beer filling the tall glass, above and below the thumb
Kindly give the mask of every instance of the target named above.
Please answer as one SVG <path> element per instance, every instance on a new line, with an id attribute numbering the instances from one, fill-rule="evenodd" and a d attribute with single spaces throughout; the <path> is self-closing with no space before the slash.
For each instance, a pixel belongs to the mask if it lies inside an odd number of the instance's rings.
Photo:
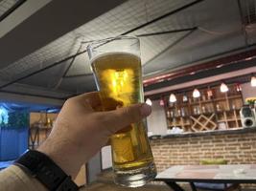
<path id="1" fill-rule="evenodd" d="M 91 65 L 105 110 L 143 102 L 141 62 L 138 56 L 131 53 L 105 53 L 96 57 Z M 111 145 L 115 169 L 147 166 L 152 161 L 143 122 L 131 124 L 112 136 Z"/>

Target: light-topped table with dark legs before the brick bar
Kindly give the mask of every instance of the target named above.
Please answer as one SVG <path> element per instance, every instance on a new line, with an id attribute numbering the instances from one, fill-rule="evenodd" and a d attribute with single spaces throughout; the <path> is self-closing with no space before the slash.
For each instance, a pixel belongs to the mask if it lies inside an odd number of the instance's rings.
<path id="1" fill-rule="evenodd" d="M 211 183 L 256 183 L 256 164 L 174 165 L 159 173 L 156 181 L 165 181 L 175 191 L 184 191 L 176 181 Z"/>

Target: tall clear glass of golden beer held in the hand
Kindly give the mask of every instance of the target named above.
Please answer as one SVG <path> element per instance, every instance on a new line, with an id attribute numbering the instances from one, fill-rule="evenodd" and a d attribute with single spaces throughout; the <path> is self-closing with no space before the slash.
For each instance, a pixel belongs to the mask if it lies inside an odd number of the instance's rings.
<path id="1" fill-rule="evenodd" d="M 105 111 L 144 102 L 139 39 L 118 36 L 87 47 Z M 156 175 L 144 121 L 130 124 L 111 138 L 114 181 L 138 187 Z"/>

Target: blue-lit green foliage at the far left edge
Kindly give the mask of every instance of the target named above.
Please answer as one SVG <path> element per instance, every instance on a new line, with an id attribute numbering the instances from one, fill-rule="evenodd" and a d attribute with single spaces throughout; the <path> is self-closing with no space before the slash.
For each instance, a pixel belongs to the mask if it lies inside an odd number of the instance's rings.
<path id="1" fill-rule="evenodd" d="M 9 113 L 8 123 L 0 124 L 1 128 L 22 129 L 29 126 L 29 113 L 27 111 Z"/>

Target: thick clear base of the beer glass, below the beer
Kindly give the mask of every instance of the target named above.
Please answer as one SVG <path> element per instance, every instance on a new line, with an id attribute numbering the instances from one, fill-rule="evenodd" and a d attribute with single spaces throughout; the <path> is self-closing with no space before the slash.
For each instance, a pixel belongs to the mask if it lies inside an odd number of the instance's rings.
<path id="1" fill-rule="evenodd" d="M 156 176 L 156 169 L 153 162 L 149 166 L 135 170 L 114 171 L 114 182 L 126 187 L 140 187 L 153 180 Z"/>

